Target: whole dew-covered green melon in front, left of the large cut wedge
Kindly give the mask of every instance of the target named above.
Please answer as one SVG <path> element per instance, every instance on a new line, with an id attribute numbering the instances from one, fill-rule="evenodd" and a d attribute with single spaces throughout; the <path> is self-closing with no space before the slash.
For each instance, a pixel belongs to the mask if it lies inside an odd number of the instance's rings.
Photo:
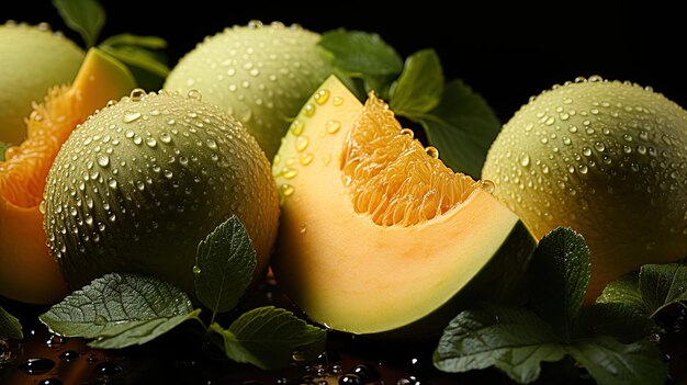
<path id="1" fill-rule="evenodd" d="M 241 126 L 198 91 L 132 91 L 91 115 L 47 178 L 45 230 L 70 287 L 109 272 L 150 274 L 193 294 L 199 241 L 232 214 L 261 276 L 277 235 L 270 165 Z"/>

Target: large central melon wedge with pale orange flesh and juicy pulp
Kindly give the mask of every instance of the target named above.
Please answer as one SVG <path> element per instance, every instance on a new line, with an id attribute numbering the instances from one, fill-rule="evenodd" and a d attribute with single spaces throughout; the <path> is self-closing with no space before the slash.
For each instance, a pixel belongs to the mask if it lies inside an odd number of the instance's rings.
<path id="1" fill-rule="evenodd" d="M 352 333 L 418 322 L 495 256 L 525 260 L 534 246 L 488 182 L 453 173 L 403 138 L 384 109 L 373 95 L 363 107 L 330 77 L 273 162 L 282 203 L 275 278 L 312 320 Z"/>

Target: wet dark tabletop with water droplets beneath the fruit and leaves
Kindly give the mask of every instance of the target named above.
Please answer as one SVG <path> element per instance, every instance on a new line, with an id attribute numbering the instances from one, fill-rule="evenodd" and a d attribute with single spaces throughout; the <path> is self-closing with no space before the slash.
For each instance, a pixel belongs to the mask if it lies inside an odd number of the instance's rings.
<path id="1" fill-rule="evenodd" d="M 496 370 L 439 372 L 431 363 L 433 341 L 402 343 L 329 332 L 327 351 L 317 360 L 306 362 L 294 356 L 291 366 L 266 372 L 227 360 L 188 325 L 144 346 L 103 351 L 90 349 L 82 339 L 48 332 L 37 321 L 45 307 L 7 301 L 0 305 L 21 318 L 25 336 L 23 341 L 0 340 L 0 384 L 513 384 Z M 297 312 L 272 284 L 261 285 L 245 307 L 262 305 Z M 687 384 L 687 308 L 674 305 L 657 320 L 665 329 L 656 339 L 671 370 L 666 384 Z M 538 383 L 594 382 L 564 361 L 544 364 Z"/>

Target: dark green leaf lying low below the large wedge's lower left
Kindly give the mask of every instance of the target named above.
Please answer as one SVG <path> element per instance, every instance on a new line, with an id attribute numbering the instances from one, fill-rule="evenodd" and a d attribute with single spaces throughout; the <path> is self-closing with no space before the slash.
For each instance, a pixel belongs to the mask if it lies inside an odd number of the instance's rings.
<path id="1" fill-rule="evenodd" d="M 229 359 L 264 370 L 288 366 L 294 353 L 313 360 L 325 350 L 327 339 L 324 329 L 272 306 L 243 314 L 226 330 L 216 322 L 210 329 L 222 336 Z"/>

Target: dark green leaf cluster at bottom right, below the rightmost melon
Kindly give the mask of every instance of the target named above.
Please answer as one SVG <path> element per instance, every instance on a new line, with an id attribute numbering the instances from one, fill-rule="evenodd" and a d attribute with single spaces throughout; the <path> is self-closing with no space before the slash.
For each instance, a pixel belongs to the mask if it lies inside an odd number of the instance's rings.
<path id="1" fill-rule="evenodd" d="M 529 304 L 482 304 L 444 329 L 435 365 L 446 372 L 495 366 L 518 383 L 540 377 L 542 362 L 572 359 L 599 384 L 663 384 L 667 367 L 651 317 L 687 298 L 687 267 L 645 265 L 583 306 L 589 280 L 583 237 L 558 228 L 542 238 L 528 271 Z"/>

